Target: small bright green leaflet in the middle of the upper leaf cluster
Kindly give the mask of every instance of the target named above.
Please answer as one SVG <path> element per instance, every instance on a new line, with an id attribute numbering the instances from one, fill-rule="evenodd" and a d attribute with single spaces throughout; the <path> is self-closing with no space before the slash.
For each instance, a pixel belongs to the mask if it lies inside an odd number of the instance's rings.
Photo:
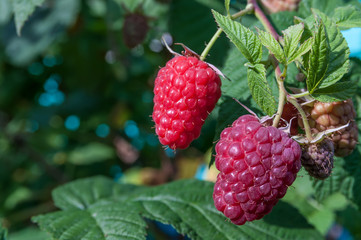
<path id="1" fill-rule="evenodd" d="M 291 62 L 288 59 L 292 59 L 293 55 L 295 55 L 298 44 L 300 43 L 302 33 L 303 33 L 304 25 L 303 23 L 299 23 L 297 25 L 290 26 L 286 30 L 283 31 L 284 35 L 284 47 L 283 50 L 285 52 L 288 64 Z"/>

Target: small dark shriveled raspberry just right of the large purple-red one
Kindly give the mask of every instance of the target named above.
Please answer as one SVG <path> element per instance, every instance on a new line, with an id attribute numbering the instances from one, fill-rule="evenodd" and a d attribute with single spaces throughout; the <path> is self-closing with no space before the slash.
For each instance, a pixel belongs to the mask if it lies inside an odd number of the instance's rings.
<path id="1" fill-rule="evenodd" d="M 325 179 L 333 168 L 334 147 L 330 139 L 302 147 L 301 163 L 310 176 Z"/>

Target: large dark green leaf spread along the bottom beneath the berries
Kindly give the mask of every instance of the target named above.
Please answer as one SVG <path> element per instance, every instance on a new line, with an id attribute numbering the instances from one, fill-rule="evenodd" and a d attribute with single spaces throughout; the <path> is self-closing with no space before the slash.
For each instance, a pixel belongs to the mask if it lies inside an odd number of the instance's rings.
<path id="1" fill-rule="evenodd" d="M 34 217 L 56 239 L 146 239 L 142 217 L 171 224 L 191 239 L 320 239 L 297 211 L 236 226 L 213 205 L 213 183 L 195 179 L 143 188 L 94 177 L 57 188 L 61 211 Z M 282 207 L 282 206 L 280 206 Z M 276 208 L 277 209 L 277 208 Z M 276 219 L 276 220 L 272 220 Z"/>

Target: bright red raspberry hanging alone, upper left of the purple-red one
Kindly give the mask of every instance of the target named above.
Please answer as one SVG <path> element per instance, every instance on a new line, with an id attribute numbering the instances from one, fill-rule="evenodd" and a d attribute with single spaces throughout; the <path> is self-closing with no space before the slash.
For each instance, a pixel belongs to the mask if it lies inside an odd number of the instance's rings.
<path id="1" fill-rule="evenodd" d="M 201 127 L 221 96 L 221 79 L 207 63 L 176 56 L 155 79 L 153 120 L 163 145 L 184 149 L 199 137 Z"/>

